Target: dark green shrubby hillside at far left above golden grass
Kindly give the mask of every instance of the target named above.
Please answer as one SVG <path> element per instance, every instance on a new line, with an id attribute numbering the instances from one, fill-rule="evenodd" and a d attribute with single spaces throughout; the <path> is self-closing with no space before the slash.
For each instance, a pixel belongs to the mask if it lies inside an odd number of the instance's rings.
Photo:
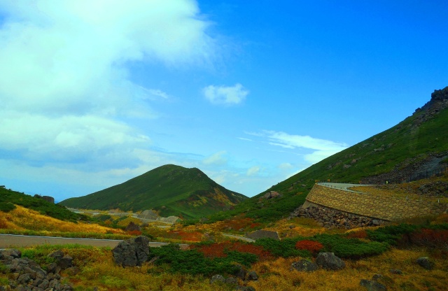
<path id="1" fill-rule="evenodd" d="M 0 211 L 3 213 L 13 211 L 15 205 L 38 211 L 43 215 L 48 215 L 59 220 L 78 221 L 87 219 L 85 215 L 73 213 L 64 206 L 52 204 L 43 199 L 0 187 Z"/>

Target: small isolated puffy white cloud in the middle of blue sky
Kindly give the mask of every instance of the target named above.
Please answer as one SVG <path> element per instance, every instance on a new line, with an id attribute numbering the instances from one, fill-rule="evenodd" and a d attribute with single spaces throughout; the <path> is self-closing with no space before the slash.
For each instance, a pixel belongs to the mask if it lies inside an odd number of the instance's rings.
<path id="1" fill-rule="evenodd" d="M 248 90 L 239 83 L 233 87 L 209 85 L 202 92 L 211 103 L 226 105 L 240 104 L 249 94 Z"/>

